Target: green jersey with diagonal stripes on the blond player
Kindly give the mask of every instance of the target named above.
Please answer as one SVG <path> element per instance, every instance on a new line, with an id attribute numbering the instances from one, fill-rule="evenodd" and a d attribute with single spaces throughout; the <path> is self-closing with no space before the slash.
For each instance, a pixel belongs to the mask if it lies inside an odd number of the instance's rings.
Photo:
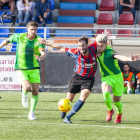
<path id="1" fill-rule="evenodd" d="M 118 60 L 113 58 L 116 52 L 107 45 L 105 51 L 97 58 L 102 76 L 119 74 L 121 72 Z"/>

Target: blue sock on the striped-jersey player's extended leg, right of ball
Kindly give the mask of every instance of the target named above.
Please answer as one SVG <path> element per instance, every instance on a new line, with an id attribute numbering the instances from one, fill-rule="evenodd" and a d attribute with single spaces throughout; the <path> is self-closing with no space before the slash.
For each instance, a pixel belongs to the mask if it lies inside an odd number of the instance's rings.
<path id="1" fill-rule="evenodd" d="M 80 99 L 74 104 L 73 108 L 71 109 L 70 113 L 66 116 L 67 118 L 71 118 L 75 113 L 77 113 L 81 107 L 84 105 L 85 102 L 81 101 Z"/>

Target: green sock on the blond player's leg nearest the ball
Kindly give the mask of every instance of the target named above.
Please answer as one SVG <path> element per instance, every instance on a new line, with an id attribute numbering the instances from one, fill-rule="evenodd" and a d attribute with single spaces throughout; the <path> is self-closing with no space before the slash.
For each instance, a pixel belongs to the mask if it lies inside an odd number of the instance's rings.
<path id="1" fill-rule="evenodd" d="M 103 92 L 103 98 L 108 110 L 112 110 L 110 92 Z"/>

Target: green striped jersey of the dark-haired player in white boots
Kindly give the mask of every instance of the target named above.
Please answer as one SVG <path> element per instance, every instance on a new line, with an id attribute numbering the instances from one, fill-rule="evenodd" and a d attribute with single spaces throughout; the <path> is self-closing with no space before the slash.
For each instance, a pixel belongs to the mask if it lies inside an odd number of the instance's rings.
<path id="1" fill-rule="evenodd" d="M 11 43 L 17 42 L 15 69 L 27 70 L 39 68 L 38 60 L 34 55 L 40 55 L 39 48 L 45 48 L 45 45 L 35 39 L 29 40 L 27 33 L 14 34 L 9 37 Z"/>

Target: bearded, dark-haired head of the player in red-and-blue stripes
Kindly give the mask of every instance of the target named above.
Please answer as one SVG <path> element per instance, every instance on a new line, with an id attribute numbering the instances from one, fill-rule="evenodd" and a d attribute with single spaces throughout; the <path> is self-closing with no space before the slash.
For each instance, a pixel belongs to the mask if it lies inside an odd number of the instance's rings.
<path id="1" fill-rule="evenodd" d="M 78 40 L 78 48 L 81 54 L 86 54 L 88 52 L 88 37 L 81 36 Z"/>

